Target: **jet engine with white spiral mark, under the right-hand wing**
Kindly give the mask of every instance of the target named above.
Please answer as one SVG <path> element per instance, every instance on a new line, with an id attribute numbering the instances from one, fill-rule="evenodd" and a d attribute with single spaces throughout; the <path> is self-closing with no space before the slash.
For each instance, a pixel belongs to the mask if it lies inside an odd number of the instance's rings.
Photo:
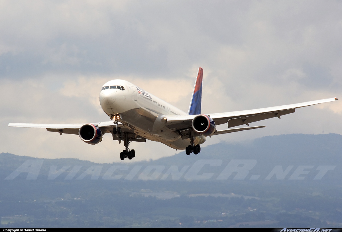
<path id="1" fill-rule="evenodd" d="M 205 136 L 214 134 L 216 130 L 214 120 L 212 120 L 208 115 L 205 114 L 197 115 L 192 121 L 192 126 L 194 131 Z"/>

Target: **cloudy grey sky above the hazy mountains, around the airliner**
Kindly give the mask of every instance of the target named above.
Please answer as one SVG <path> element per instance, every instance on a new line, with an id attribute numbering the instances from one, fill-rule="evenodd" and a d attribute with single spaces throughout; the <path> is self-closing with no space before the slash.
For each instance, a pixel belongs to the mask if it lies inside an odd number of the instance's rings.
<path id="1" fill-rule="evenodd" d="M 88 145 L 77 135 L 7 125 L 109 121 L 98 96 L 113 79 L 187 112 L 199 66 L 202 113 L 341 98 L 203 146 L 342 134 L 341 1 L 0 0 L 0 31 L 0 152 L 119 162 L 124 146 L 109 134 Z M 135 161 L 180 152 L 152 141 L 130 148 Z"/>

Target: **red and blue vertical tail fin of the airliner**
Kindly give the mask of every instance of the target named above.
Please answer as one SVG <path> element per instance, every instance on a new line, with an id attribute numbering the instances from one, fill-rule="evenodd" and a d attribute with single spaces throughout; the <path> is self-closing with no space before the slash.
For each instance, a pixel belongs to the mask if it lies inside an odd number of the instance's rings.
<path id="1" fill-rule="evenodd" d="M 197 77 L 195 81 L 194 92 L 191 97 L 190 106 L 188 114 L 201 114 L 201 104 L 202 104 L 202 79 L 203 79 L 203 69 L 198 68 Z"/>

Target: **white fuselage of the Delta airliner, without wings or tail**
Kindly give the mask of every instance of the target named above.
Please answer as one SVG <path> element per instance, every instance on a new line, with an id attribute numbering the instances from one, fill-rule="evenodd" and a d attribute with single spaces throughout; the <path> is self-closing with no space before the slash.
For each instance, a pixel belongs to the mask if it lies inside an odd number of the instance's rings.
<path id="1" fill-rule="evenodd" d="M 132 128 L 137 135 L 174 149 L 185 149 L 190 145 L 189 139 L 182 139 L 177 131 L 165 126 L 162 120 L 165 115 L 187 113 L 128 81 L 112 80 L 105 83 L 100 92 L 100 105 L 109 117 L 120 115 L 118 121 Z M 203 142 L 205 136 L 194 138 L 195 145 Z"/>

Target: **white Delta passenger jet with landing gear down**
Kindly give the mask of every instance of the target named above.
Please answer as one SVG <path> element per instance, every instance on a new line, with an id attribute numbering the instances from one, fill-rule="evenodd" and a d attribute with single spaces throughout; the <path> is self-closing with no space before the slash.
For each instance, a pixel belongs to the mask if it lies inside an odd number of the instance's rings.
<path id="1" fill-rule="evenodd" d="M 304 103 L 260 108 L 225 113 L 201 113 L 203 69 L 199 67 L 188 112 L 184 112 L 166 101 L 146 92 L 125 80 L 111 80 L 100 91 L 100 105 L 111 121 L 80 124 L 31 124 L 9 123 L 13 127 L 45 128 L 50 132 L 75 134 L 87 144 L 102 141 L 105 133 L 113 140 L 124 142 L 125 150 L 120 159 L 135 157 L 129 149 L 132 141 L 146 142 L 146 139 L 161 142 L 171 148 L 184 150 L 187 155 L 198 154 L 200 145 L 208 136 L 220 135 L 265 126 L 249 123 L 294 113 L 295 109 L 338 100 L 336 97 Z M 216 125 L 227 123 L 228 129 L 217 130 Z M 231 128 L 240 125 L 248 127 Z"/>

